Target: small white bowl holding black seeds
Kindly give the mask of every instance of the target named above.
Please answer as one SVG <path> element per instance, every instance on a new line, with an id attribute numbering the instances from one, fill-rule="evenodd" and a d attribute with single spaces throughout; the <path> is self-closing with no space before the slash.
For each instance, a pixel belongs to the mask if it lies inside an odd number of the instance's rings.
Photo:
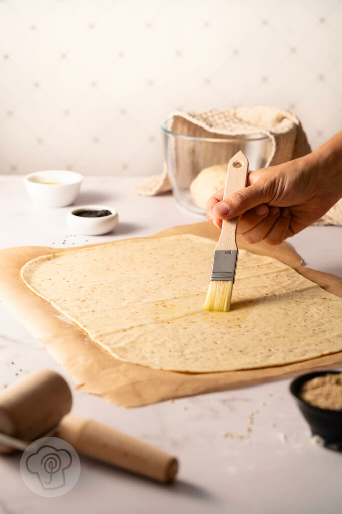
<path id="1" fill-rule="evenodd" d="M 108 210 L 111 214 L 108 216 L 100 216 L 98 218 L 87 218 L 83 216 L 76 216 L 77 212 L 81 211 L 102 211 Z M 103 205 L 85 205 L 83 207 L 76 207 L 69 211 L 67 214 L 67 224 L 71 230 L 77 234 L 82 235 L 102 235 L 111 232 L 116 227 L 119 221 L 119 216 L 115 209 L 105 207 Z"/>

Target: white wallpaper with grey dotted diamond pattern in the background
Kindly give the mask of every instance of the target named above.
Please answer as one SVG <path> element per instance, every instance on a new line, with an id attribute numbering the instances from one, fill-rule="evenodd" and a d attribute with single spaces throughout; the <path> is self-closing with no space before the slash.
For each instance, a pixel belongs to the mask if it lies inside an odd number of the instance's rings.
<path id="1" fill-rule="evenodd" d="M 0 1 L 0 173 L 162 169 L 174 109 L 342 124 L 342 0 Z"/>

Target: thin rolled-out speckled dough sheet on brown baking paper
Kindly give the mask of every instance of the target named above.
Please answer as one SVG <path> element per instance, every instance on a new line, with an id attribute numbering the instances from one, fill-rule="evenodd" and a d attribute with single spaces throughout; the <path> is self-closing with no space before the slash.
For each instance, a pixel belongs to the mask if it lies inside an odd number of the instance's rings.
<path id="1" fill-rule="evenodd" d="M 206 373 L 342 350 L 342 299 L 271 257 L 239 252 L 232 309 L 205 311 L 215 243 L 190 234 L 38 257 L 21 277 L 114 357 Z"/>

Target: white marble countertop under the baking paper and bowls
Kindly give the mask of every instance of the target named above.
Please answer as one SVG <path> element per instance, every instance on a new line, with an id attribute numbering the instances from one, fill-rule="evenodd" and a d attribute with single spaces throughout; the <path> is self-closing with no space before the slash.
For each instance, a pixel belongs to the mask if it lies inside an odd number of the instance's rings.
<path id="1" fill-rule="evenodd" d="M 22 179 L 0 176 L 0 247 L 76 247 L 146 236 L 201 218 L 179 209 L 171 195 L 130 194 L 140 178 L 86 177 L 77 205 L 110 205 L 119 225 L 105 236 L 73 236 L 69 208 L 35 209 Z M 291 239 L 307 265 L 342 274 L 340 228 L 310 227 Z M 68 235 L 69 237 L 66 237 Z M 72 381 L 44 348 L 0 305 L 0 387 L 38 368 L 50 368 Z M 163 512 L 245 514 L 337 514 L 342 509 L 342 455 L 313 445 L 310 431 L 289 392 L 289 380 L 198 395 L 148 407 L 122 409 L 74 392 L 73 413 L 116 427 L 174 453 L 178 480 L 161 486 L 81 457 L 81 476 L 62 497 L 41 498 L 26 489 L 18 470 L 20 455 L 0 458 L 1 514 L 135 514 Z M 265 405 L 264 405 L 265 403 Z M 257 409 L 250 436 L 243 433 Z M 275 425 L 275 426 L 274 426 Z"/>

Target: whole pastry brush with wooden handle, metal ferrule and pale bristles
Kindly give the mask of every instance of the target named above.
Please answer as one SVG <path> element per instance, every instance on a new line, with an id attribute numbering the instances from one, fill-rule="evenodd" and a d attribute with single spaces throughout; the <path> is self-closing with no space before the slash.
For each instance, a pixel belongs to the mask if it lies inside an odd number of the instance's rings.
<path id="1" fill-rule="evenodd" d="M 224 198 L 244 189 L 247 183 L 248 159 L 237 152 L 229 161 Z M 232 299 L 237 264 L 236 228 L 239 216 L 222 222 L 222 230 L 214 251 L 214 260 L 207 298 L 203 308 L 228 312 Z"/>

